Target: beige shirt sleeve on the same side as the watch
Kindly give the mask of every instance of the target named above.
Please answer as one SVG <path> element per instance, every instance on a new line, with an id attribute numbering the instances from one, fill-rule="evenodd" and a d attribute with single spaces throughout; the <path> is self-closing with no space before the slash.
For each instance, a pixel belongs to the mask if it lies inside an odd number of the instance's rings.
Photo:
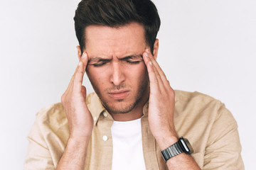
<path id="1" fill-rule="evenodd" d="M 204 157 L 205 170 L 243 170 L 238 125 L 233 115 L 220 106 L 210 131 Z"/>

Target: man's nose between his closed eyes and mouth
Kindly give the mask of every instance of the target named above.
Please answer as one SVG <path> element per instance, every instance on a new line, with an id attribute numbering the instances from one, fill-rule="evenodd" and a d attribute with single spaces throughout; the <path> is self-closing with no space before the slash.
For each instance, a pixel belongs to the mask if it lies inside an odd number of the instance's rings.
<path id="1" fill-rule="evenodd" d="M 112 63 L 112 73 L 110 77 L 110 81 L 115 86 L 118 86 L 124 82 L 125 76 L 124 76 L 124 68 L 122 67 L 122 64 L 119 62 L 113 62 Z"/>

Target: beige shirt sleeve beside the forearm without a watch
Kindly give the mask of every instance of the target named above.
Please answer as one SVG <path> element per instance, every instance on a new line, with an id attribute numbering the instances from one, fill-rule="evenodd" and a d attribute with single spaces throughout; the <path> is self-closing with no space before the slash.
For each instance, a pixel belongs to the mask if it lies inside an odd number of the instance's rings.
<path id="1" fill-rule="evenodd" d="M 37 121 L 33 124 L 28 135 L 28 152 L 24 163 L 25 170 L 55 169 L 50 151 Z"/>

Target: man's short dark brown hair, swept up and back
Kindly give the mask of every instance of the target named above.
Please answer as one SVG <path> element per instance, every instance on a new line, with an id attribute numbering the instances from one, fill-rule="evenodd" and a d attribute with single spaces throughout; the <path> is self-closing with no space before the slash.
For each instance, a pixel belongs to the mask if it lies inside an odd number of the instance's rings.
<path id="1" fill-rule="evenodd" d="M 81 51 L 85 48 L 87 26 L 118 28 L 132 22 L 144 26 L 146 44 L 154 49 L 160 27 L 156 6 L 150 0 L 82 0 L 75 11 L 75 34 Z"/>

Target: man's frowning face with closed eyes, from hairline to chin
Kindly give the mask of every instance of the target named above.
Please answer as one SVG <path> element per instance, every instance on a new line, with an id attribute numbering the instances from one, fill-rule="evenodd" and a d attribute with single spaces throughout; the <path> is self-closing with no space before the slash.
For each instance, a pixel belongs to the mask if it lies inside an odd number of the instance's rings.
<path id="1" fill-rule="evenodd" d="M 85 51 L 87 76 L 110 113 L 129 113 L 149 97 L 149 77 L 142 54 L 144 28 L 130 23 L 120 28 L 88 26 Z"/>

